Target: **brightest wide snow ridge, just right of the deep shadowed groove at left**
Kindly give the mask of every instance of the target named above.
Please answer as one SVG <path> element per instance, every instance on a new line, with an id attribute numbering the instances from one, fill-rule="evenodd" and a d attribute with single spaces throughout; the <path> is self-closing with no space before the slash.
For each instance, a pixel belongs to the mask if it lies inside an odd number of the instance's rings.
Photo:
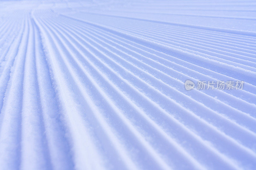
<path id="1" fill-rule="evenodd" d="M 36 24 L 38 25 L 38 27 L 40 28 L 40 31 L 44 34 L 44 44 L 52 44 L 52 41 L 54 39 L 52 39 L 50 37 L 50 35 L 48 35 L 48 33 L 43 29 L 43 27 L 39 24 L 39 22 L 37 20 L 35 20 Z M 48 35 L 48 36 L 47 36 Z M 51 38 L 51 40 L 49 40 L 49 38 Z M 58 44 L 56 44 L 58 45 Z M 58 54 L 59 52 L 57 51 L 58 50 L 58 47 L 56 49 L 53 48 L 53 46 L 47 46 L 47 51 L 48 53 L 51 53 L 51 54 Z M 55 51 L 56 50 L 56 51 Z M 60 54 L 58 54 L 60 55 Z M 52 67 L 52 70 L 53 70 L 53 74 L 54 76 L 56 76 L 56 72 L 61 75 L 61 71 L 60 71 L 60 66 L 54 66 L 52 63 L 53 61 L 56 60 L 56 58 L 54 56 L 50 56 L 50 63 L 51 63 L 51 67 Z M 64 76 L 65 77 L 65 76 Z M 95 146 L 92 144 L 91 142 L 91 139 L 89 137 L 89 134 L 88 134 L 88 131 L 85 129 L 85 125 L 83 123 L 83 120 L 81 119 L 80 117 L 80 114 L 78 112 L 78 110 L 76 110 L 73 107 L 70 107 L 70 103 L 71 100 L 69 100 L 69 98 L 65 97 L 66 95 L 68 95 L 69 93 L 67 93 L 69 90 L 67 90 L 68 87 L 65 87 L 65 86 L 61 86 L 61 87 L 58 87 L 60 86 L 60 82 L 63 84 L 64 81 L 64 77 L 56 77 L 57 78 L 57 84 L 55 84 L 56 88 L 58 88 L 58 94 L 61 95 L 60 96 L 60 102 L 62 102 L 61 104 L 63 105 L 63 111 L 64 111 L 64 120 L 65 120 L 65 123 L 68 124 L 68 131 L 70 133 L 70 137 L 72 137 L 69 142 L 71 143 L 72 147 L 74 148 L 77 148 L 79 147 L 80 149 L 79 150 L 74 150 L 74 155 L 73 155 L 73 158 L 74 159 L 74 166 L 78 169 L 81 169 L 82 167 L 87 167 L 87 168 L 92 168 L 92 165 L 86 161 L 84 162 L 84 160 L 82 160 L 82 158 L 86 158 L 86 159 L 93 159 L 93 161 L 97 161 L 97 152 L 95 152 Z M 65 83 L 64 83 L 65 84 Z M 63 93 L 63 91 L 65 91 L 65 93 Z M 64 97 L 63 97 L 64 96 Z M 68 101 L 66 101 L 65 99 L 68 99 Z M 76 100 L 73 101 L 73 103 L 75 102 Z M 76 110 L 76 112 L 73 112 L 73 114 L 70 114 L 71 113 L 71 109 L 72 110 Z M 76 124 L 76 126 L 74 126 Z M 81 135 L 79 135 L 79 133 L 82 133 Z M 87 144 L 87 145 L 84 145 L 84 144 Z M 88 148 L 91 147 L 91 148 Z M 83 148 L 83 150 L 81 150 Z M 93 155 L 90 155 L 91 158 L 89 157 L 89 153 L 85 151 L 85 149 L 89 149 L 89 151 L 91 150 L 91 152 L 94 150 L 93 152 Z M 80 157 L 81 156 L 81 157 Z M 96 158 L 95 158 L 96 156 Z M 92 161 L 92 162 L 93 162 Z M 100 165 L 96 165 L 94 164 L 94 166 L 96 167 L 100 167 Z"/>

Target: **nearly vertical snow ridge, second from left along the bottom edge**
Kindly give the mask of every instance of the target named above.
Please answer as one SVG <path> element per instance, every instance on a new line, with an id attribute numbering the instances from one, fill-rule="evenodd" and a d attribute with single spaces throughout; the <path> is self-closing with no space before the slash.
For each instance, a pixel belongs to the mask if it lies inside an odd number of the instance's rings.
<path id="1" fill-rule="evenodd" d="M 25 60 L 22 124 L 21 124 L 21 169 L 51 169 L 49 149 L 45 139 L 42 106 L 38 98 L 35 68 L 35 31 L 29 19 L 28 49 Z M 26 129 L 24 131 L 23 129 Z M 34 160 L 34 161 L 31 161 Z"/>

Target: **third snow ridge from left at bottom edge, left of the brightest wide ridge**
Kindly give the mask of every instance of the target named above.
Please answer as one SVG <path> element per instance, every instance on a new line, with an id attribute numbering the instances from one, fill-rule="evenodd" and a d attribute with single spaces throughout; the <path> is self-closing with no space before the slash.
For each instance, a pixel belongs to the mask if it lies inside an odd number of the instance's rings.
<path id="1" fill-rule="evenodd" d="M 37 40 L 35 41 L 35 53 L 38 56 L 36 57 L 37 82 L 52 168 L 72 169 L 74 163 L 72 161 L 70 162 L 72 157 L 69 148 L 66 147 L 70 147 L 70 144 L 65 136 L 66 129 L 59 115 L 60 108 L 58 107 L 54 88 L 52 87 L 50 68 L 44 58 L 45 54 L 43 52 L 43 45 L 41 44 L 42 40 L 38 31 L 39 28 L 36 23 L 34 26 L 36 27 L 35 38 Z"/>

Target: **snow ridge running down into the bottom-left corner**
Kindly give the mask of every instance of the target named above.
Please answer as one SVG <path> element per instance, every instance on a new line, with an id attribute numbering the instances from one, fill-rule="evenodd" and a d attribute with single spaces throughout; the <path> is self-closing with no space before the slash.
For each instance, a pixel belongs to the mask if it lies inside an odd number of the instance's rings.
<path id="1" fill-rule="evenodd" d="M 25 32 L 22 35 L 20 48 L 18 51 L 16 60 L 14 61 L 14 67 L 11 70 L 12 77 L 8 82 L 8 86 L 4 95 L 3 107 L 1 108 L 1 117 L 0 117 L 0 160 L 2 168 L 4 169 L 18 169 L 21 163 L 21 123 L 22 116 L 21 106 L 22 106 L 22 97 L 15 97 L 16 94 L 20 96 L 23 95 L 23 70 L 25 63 L 25 55 L 27 51 L 28 44 L 28 18 L 26 19 Z M 17 66 L 17 67 L 15 67 Z M 13 100 L 14 99 L 14 100 Z M 13 107 L 14 106 L 14 107 Z M 12 134 L 12 135 L 6 135 Z M 12 143 L 12 145 L 10 145 Z M 4 152 L 4 150 L 8 152 Z M 3 161 L 3 162 L 2 162 Z"/>

